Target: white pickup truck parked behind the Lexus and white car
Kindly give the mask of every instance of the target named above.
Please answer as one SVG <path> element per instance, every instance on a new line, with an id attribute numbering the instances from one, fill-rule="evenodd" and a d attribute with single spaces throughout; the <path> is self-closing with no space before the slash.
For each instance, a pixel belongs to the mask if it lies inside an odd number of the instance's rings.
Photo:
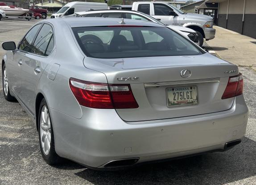
<path id="1" fill-rule="evenodd" d="M 132 10 L 153 16 L 164 24 L 193 29 L 198 33 L 200 46 L 203 44 L 203 38 L 210 40 L 215 37 L 215 29 L 212 28 L 213 18 L 211 16 L 185 13 L 169 3 L 152 1 L 134 2 Z"/>

